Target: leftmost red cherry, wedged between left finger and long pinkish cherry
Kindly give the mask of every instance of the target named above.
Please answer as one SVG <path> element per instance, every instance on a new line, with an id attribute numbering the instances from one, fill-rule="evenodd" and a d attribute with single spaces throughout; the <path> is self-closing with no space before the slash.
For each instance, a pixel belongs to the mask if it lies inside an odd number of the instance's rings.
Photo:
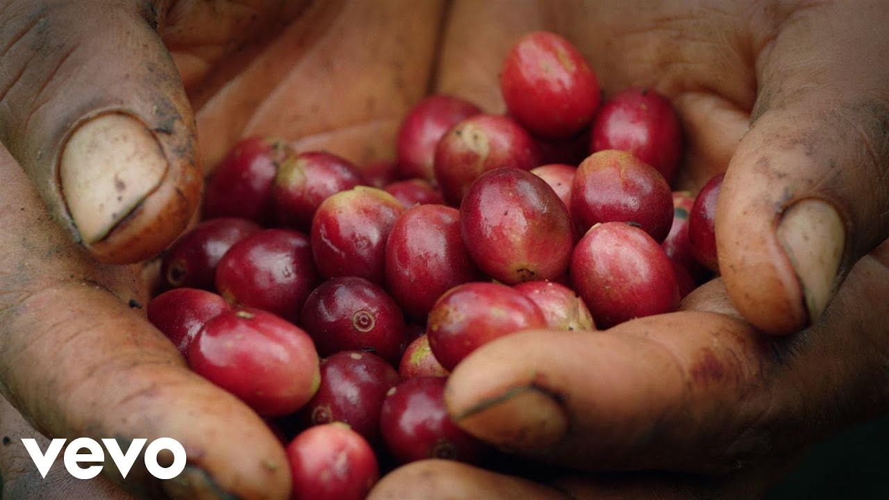
<path id="1" fill-rule="evenodd" d="M 148 302 L 146 312 L 151 322 L 182 356 L 204 323 L 228 310 L 228 302 L 220 295 L 197 288 L 173 288 Z"/>

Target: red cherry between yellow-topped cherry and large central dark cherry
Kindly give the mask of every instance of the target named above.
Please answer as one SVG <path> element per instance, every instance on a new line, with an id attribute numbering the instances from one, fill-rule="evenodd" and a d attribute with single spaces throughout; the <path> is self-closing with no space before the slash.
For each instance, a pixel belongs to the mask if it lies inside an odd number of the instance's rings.
<path id="1" fill-rule="evenodd" d="M 460 211 L 414 206 L 398 218 L 386 245 L 386 283 L 405 314 L 426 321 L 432 304 L 478 276 L 460 236 Z"/>

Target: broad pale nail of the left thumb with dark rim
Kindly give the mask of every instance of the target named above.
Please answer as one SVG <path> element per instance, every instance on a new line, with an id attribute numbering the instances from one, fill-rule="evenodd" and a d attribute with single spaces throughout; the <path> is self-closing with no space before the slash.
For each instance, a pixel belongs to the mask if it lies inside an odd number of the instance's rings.
<path id="1" fill-rule="evenodd" d="M 77 127 L 62 151 L 62 196 L 80 238 L 105 238 L 164 179 L 164 151 L 142 123 L 127 115 L 95 117 Z"/>

